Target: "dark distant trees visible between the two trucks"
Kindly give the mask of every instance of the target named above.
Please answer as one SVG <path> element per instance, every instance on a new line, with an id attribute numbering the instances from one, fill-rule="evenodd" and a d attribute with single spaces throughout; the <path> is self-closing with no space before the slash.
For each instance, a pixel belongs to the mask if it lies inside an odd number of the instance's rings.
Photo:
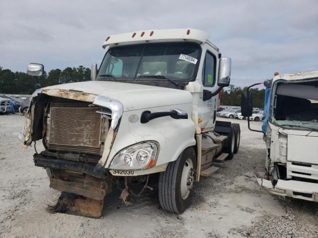
<path id="1" fill-rule="evenodd" d="M 246 91 L 247 87 L 235 87 L 230 85 L 229 90 L 221 90 L 221 106 L 240 106 L 241 94 Z M 249 91 L 253 92 L 253 107 L 264 107 L 265 89 L 251 88 Z"/>

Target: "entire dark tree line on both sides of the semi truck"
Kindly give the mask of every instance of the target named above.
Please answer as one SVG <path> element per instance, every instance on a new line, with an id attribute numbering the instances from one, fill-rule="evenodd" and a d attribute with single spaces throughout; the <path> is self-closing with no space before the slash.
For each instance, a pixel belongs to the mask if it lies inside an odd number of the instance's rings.
<path id="1" fill-rule="evenodd" d="M 42 87 L 61 84 L 73 83 L 90 80 L 90 69 L 80 65 L 79 67 L 67 67 L 64 70 L 59 68 L 52 69 L 49 73 L 44 71 L 39 77 Z M 241 93 L 246 91 L 247 87 L 240 88 L 230 85 L 229 90 L 222 89 L 221 105 L 240 106 Z M 24 72 L 12 72 L 10 69 L 0 67 L 0 93 L 7 94 L 32 94 L 35 91 L 34 79 Z M 265 90 L 258 88 L 250 89 L 254 93 L 254 107 L 262 108 L 264 105 Z"/>

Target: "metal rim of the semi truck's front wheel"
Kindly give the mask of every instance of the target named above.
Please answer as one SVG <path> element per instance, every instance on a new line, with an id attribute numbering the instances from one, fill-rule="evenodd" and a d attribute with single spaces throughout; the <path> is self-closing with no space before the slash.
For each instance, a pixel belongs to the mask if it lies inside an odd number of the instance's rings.
<path id="1" fill-rule="evenodd" d="M 190 158 L 188 158 L 183 166 L 182 175 L 181 175 L 181 197 L 182 199 L 187 199 L 189 196 L 194 182 L 194 169 L 193 163 Z"/>

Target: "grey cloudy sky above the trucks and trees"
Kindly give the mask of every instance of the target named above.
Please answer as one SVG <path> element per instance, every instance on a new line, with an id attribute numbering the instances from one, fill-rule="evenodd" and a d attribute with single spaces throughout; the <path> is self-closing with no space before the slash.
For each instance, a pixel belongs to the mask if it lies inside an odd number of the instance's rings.
<path id="1" fill-rule="evenodd" d="M 46 71 L 100 63 L 104 39 L 146 29 L 207 31 L 232 83 L 318 70 L 318 0 L 1 0 L 0 66 Z"/>

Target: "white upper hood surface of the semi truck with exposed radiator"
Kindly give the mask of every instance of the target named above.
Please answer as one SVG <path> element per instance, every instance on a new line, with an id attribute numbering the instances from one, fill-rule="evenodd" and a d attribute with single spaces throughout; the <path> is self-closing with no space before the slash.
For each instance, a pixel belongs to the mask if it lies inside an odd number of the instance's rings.
<path id="1" fill-rule="evenodd" d="M 48 94 L 49 91 L 69 90 L 104 96 L 119 101 L 124 112 L 192 102 L 191 94 L 185 90 L 110 81 L 67 83 L 42 90 Z"/>

